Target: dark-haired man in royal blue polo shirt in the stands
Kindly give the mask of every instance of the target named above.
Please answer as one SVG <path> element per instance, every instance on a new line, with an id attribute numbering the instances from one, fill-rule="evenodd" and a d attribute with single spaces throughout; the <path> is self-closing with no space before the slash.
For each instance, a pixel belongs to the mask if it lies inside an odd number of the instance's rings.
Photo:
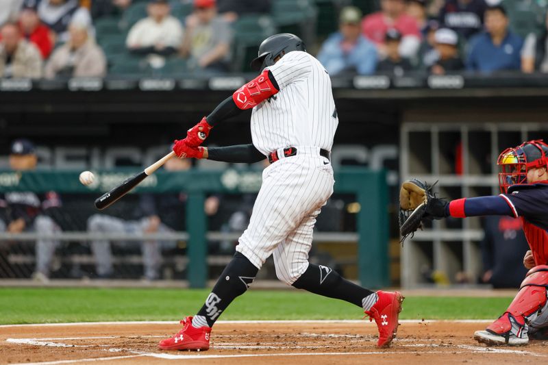
<path id="1" fill-rule="evenodd" d="M 486 32 L 470 40 L 466 68 L 482 73 L 519 70 L 523 39 L 508 29 L 508 16 L 501 5 L 487 8 L 485 27 Z"/>

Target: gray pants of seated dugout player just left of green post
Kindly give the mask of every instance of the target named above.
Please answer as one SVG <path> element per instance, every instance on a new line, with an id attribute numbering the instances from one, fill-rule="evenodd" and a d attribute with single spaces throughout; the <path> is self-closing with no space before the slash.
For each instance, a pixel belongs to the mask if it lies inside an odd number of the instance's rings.
<path id="1" fill-rule="evenodd" d="M 149 218 L 142 218 L 140 221 L 125 221 L 113 216 L 95 214 L 88 219 L 88 232 L 144 234 L 148 226 Z M 164 224 L 160 224 L 160 227 L 158 227 L 158 232 L 168 231 L 171 231 L 171 229 Z M 135 242 L 139 241 L 118 241 L 116 244 L 127 246 Z M 145 277 L 147 279 L 157 279 L 159 276 L 158 270 L 160 269 L 160 264 L 162 264 L 161 242 L 149 240 L 140 242 L 140 245 L 143 266 L 145 266 Z M 112 275 L 110 242 L 108 240 L 93 240 L 91 242 L 91 251 L 95 255 L 97 275 Z"/>

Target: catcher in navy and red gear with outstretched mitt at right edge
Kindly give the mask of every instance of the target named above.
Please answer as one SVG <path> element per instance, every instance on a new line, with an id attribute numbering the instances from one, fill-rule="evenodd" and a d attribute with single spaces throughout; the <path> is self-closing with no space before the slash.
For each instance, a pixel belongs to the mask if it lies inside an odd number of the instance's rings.
<path id="1" fill-rule="evenodd" d="M 529 338 L 548 338 L 548 144 L 523 142 L 499 155 L 501 194 L 453 201 L 432 194 L 424 181 L 405 181 L 400 190 L 400 231 L 403 239 L 425 220 L 447 216 L 508 215 L 520 217 L 530 251 L 523 264 L 530 269 L 510 306 L 474 338 L 488 345 L 525 345 Z"/>

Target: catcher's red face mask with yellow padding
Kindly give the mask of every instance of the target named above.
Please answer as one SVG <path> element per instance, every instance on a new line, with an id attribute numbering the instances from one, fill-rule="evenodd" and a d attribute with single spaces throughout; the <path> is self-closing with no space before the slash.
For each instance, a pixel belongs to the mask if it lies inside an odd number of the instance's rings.
<path id="1" fill-rule="evenodd" d="M 530 140 L 518 147 L 505 149 L 499 155 L 499 186 L 501 192 L 516 184 L 527 184 L 527 171 L 531 168 L 548 168 L 548 144 L 543 140 Z"/>

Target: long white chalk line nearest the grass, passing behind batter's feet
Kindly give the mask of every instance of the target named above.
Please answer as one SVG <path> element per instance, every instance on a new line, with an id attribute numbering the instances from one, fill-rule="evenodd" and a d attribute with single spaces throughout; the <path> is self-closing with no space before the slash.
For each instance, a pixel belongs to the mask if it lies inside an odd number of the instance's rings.
<path id="1" fill-rule="evenodd" d="M 493 319 L 449 319 L 449 320 L 437 320 L 437 319 L 400 319 L 399 323 L 491 323 Z M 238 325 L 238 324 L 291 324 L 291 323 L 310 323 L 310 324 L 323 324 L 323 323 L 349 323 L 349 324 L 371 324 L 375 323 L 369 322 L 369 320 L 355 320 L 355 319 L 342 319 L 342 320 L 333 320 L 333 319 L 318 319 L 318 320 L 217 320 L 216 324 L 219 325 Z M 125 320 L 120 322 L 71 322 L 71 323 L 28 323 L 24 325 L 0 325 L 0 328 L 6 327 L 32 327 L 32 326 L 103 326 L 103 325 L 179 325 L 179 321 L 175 320 Z"/>

